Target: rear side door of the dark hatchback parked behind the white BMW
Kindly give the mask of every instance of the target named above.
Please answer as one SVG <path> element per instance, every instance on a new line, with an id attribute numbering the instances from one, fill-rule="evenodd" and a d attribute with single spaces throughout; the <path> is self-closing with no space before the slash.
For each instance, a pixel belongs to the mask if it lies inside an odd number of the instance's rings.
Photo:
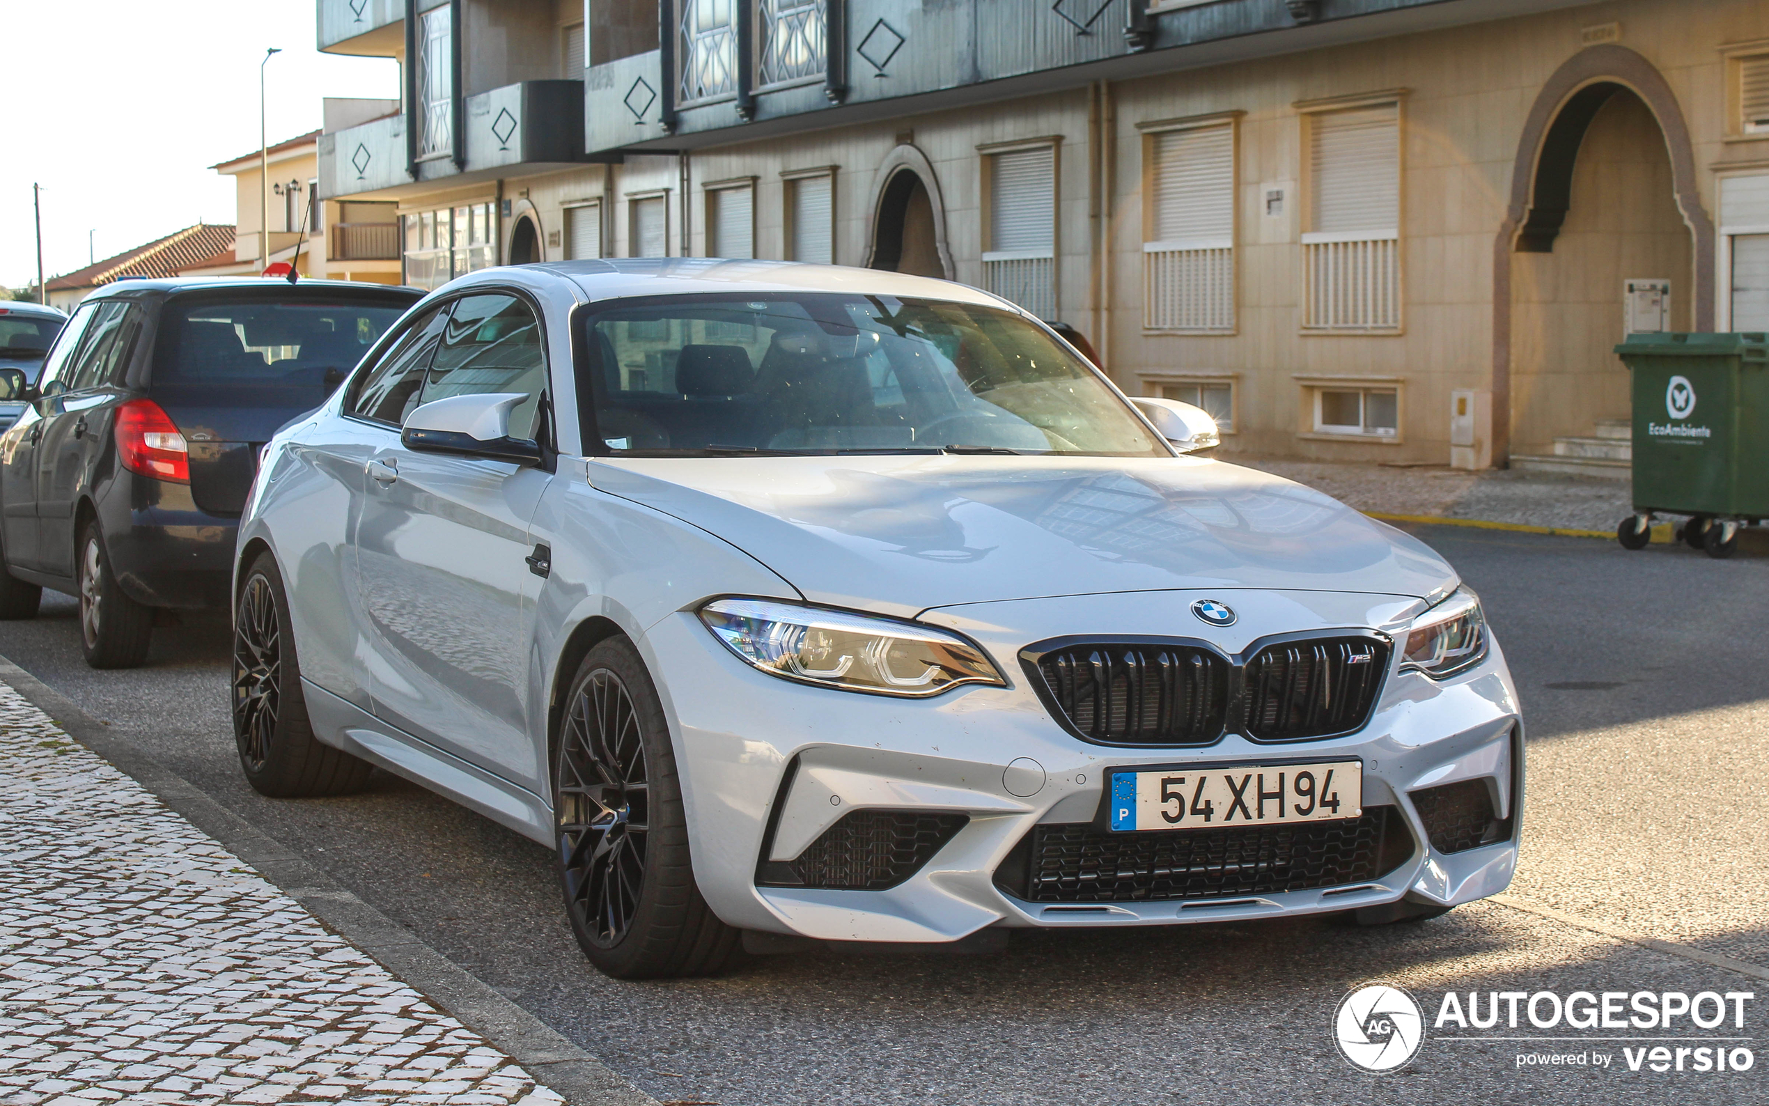
<path id="1" fill-rule="evenodd" d="M 110 412 L 124 400 L 122 368 L 134 352 L 143 313 L 108 301 L 92 319 L 67 391 L 55 396 L 37 444 L 37 556 L 44 572 L 74 573 L 74 508 L 110 437 Z"/>

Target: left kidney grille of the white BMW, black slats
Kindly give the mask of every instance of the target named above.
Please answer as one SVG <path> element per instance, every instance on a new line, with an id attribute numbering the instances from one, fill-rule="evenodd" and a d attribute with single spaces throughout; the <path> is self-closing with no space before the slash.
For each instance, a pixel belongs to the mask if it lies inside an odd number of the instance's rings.
<path id="1" fill-rule="evenodd" d="M 1056 710 L 1109 745 L 1208 745 L 1222 736 L 1226 658 L 1189 646 L 1090 642 L 1038 658 Z"/>

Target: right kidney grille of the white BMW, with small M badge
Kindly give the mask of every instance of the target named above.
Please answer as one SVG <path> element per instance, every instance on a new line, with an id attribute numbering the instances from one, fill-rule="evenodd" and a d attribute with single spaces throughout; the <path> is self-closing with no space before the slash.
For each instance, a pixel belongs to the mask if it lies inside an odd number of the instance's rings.
<path id="1" fill-rule="evenodd" d="M 1247 662 L 1242 727 L 1254 741 L 1348 734 L 1369 720 L 1389 671 L 1373 637 L 1320 637 L 1260 649 Z"/>

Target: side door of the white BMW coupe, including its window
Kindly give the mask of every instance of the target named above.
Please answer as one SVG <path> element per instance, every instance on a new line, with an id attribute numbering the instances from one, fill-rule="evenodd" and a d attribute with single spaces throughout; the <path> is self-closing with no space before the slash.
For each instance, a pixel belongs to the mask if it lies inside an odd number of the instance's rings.
<path id="1" fill-rule="evenodd" d="M 518 296 L 453 303 L 421 402 L 524 393 L 511 437 L 545 434 L 547 356 Z M 550 476 L 481 457 L 421 453 L 389 426 L 356 529 L 371 694 L 386 722 L 518 786 L 541 770 L 525 729 L 527 649 L 540 579 L 529 520 Z"/>

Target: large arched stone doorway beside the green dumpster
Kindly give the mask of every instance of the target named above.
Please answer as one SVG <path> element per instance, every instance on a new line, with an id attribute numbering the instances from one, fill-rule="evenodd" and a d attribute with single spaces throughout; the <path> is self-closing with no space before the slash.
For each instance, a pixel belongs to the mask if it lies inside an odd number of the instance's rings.
<path id="1" fill-rule="evenodd" d="M 1629 416 L 1622 283 L 1672 285 L 1672 329 L 1712 329 L 1714 227 L 1675 96 L 1638 53 L 1592 46 L 1546 81 L 1493 248 L 1493 462 Z"/>

